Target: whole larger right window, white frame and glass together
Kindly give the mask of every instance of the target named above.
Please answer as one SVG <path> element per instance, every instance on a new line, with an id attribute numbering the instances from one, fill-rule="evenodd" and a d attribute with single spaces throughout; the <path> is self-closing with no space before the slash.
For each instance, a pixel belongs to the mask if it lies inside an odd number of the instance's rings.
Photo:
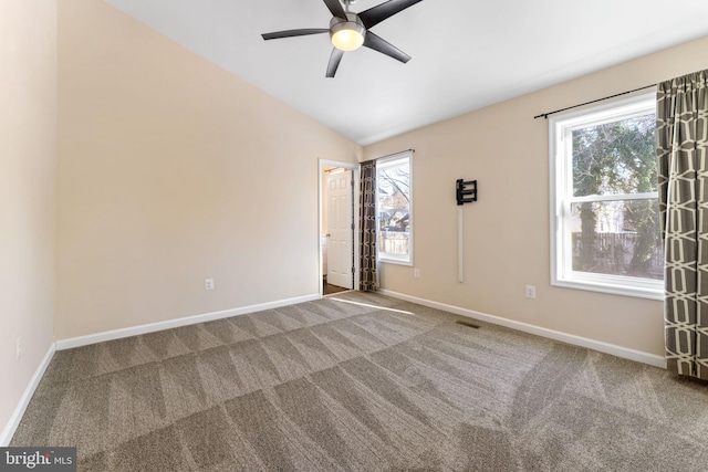
<path id="1" fill-rule="evenodd" d="M 656 96 L 550 120 L 551 283 L 662 298 Z"/>

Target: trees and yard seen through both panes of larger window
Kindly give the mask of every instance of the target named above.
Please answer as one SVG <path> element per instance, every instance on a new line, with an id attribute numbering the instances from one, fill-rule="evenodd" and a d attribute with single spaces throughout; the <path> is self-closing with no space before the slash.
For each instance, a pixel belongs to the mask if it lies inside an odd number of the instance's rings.
<path id="1" fill-rule="evenodd" d="M 663 279 L 655 114 L 572 132 L 573 196 L 622 200 L 571 206 L 573 270 Z"/>

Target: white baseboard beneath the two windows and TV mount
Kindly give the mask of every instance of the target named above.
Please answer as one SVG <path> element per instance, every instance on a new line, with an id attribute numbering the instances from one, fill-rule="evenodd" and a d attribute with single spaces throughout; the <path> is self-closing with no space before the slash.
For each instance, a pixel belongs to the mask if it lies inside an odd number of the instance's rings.
<path id="1" fill-rule="evenodd" d="M 406 295 L 404 293 L 392 292 L 388 290 L 379 290 L 383 295 L 394 298 L 404 300 L 406 302 L 417 303 L 418 305 L 429 306 L 430 308 L 442 310 L 445 312 L 455 313 L 456 315 L 467 316 L 482 322 L 491 323 L 499 326 L 517 329 L 520 332 L 546 337 L 549 339 L 560 340 L 575 346 L 586 347 L 600 353 L 611 354 L 624 359 L 635 360 L 637 363 L 648 364 L 649 366 L 666 368 L 666 359 L 656 354 L 644 353 L 642 350 L 629 349 L 627 347 L 614 344 L 603 343 L 601 340 L 590 339 L 586 337 L 575 336 L 573 334 L 562 333 L 549 328 L 543 328 L 528 323 L 516 322 L 513 319 L 502 318 L 500 316 L 489 315 L 487 313 L 475 312 L 472 310 L 461 308 L 459 306 L 447 305 L 445 303 L 433 302 L 430 300 L 418 298 L 416 296 Z"/>

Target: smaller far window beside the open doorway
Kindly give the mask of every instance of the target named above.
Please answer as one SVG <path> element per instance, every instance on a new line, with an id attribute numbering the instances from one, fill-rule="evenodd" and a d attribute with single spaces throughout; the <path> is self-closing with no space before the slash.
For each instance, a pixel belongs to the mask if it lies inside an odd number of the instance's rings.
<path id="1" fill-rule="evenodd" d="M 413 151 L 376 161 L 378 260 L 413 265 Z"/>

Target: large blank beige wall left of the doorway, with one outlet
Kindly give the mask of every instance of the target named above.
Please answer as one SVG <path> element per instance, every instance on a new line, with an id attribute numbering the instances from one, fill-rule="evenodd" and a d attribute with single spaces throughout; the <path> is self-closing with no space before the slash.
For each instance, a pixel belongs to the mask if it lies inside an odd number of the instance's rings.
<path id="1" fill-rule="evenodd" d="M 100 0 L 59 64 L 56 339 L 319 293 L 317 159 L 360 146 Z"/>

